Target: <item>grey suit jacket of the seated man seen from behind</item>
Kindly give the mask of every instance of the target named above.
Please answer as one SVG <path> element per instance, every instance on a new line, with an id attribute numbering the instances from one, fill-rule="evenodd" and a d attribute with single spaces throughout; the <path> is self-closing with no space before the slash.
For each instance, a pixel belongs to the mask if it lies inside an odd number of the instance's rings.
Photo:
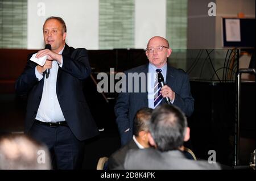
<path id="1" fill-rule="evenodd" d="M 161 152 L 157 149 L 129 150 L 123 167 L 125 170 L 220 170 L 218 163 L 185 158 L 179 150 Z"/>

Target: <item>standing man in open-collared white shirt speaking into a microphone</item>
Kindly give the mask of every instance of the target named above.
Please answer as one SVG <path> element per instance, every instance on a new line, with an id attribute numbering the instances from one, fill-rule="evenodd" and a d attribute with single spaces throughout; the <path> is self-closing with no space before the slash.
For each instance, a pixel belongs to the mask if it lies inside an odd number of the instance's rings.
<path id="1" fill-rule="evenodd" d="M 82 91 L 83 80 L 90 75 L 88 55 L 84 48 L 65 44 L 67 28 L 59 17 L 44 22 L 43 34 L 52 50 L 40 50 L 36 58 L 47 56 L 46 63 L 37 65 L 29 56 L 16 81 L 16 92 L 28 95 L 25 132 L 48 146 L 57 169 L 78 169 L 83 140 L 98 134 Z"/>

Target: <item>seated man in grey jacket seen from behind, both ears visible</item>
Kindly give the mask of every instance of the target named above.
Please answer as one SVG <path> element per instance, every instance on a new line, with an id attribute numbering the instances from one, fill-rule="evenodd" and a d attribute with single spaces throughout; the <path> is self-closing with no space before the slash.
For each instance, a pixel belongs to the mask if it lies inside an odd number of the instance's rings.
<path id="1" fill-rule="evenodd" d="M 149 127 L 148 140 L 155 149 L 129 150 L 124 169 L 221 169 L 218 163 L 185 158 L 180 148 L 183 141 L 189 139 L 189 128 L 184 113 L 176 106 L 157 107 L 152 112 Z"/>

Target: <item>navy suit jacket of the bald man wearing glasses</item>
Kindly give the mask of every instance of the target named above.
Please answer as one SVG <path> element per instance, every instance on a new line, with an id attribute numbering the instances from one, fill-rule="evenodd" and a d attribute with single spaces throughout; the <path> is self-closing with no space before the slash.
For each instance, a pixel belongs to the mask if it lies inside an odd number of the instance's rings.
<path id="1" fill-rule="evenodd" d="M 148 64 L 125 71 L 126 77 L 128 77 L 128 73 L 146 74 L 148 73 Z M 139 81 L 139 85 L 142 85 L 141 79 Z M 194 110 L 194 99 L 191 95 L 188 75 L 184 71 L 167 66 L 166 85 L 175 92 L 174 105 L 179 107 L 186 116 L 191 116 Z M 133 85 L 126 84 L 126 88 L 131 86 Z M 146 92 L 142 92 L 141 87 L 138 92 L 134 92 L 134 90 L 133 92 L 120 92 L 114 110 L 122 145 L 125 145 L 133 137 L 134 116 L 140 108 L 148 107 L 147 96 L 147 89 Z M 163 99 L 163 103 L 166 103 L 166 99 Z M 130 131 L 125 132 L 128 128 Z"/>

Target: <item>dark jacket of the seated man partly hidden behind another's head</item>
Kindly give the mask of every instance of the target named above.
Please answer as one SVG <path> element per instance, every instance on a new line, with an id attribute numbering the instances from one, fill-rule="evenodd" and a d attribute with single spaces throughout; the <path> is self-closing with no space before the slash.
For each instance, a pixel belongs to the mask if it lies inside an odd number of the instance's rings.
<path id="1" fill-rule="evenodd" d="M 109 157 L 109 169 L 115 169 L 118 166 L 123 165 L 123 163 L 125 163 L 125 155 L 127 151 L 129 151 L 130 149 L 139 149 L 139 147 L 135 144 L 133 139 L 131 139 L 127 145 L 118 149 Z"/>

